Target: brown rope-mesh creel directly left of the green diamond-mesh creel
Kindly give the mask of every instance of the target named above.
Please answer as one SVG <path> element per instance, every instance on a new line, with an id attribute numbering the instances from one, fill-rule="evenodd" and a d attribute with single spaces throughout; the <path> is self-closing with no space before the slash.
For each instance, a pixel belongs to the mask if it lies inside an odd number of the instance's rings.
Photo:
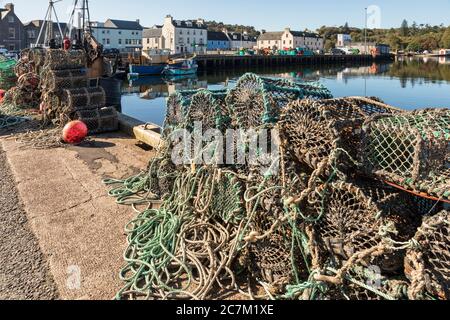
<path id="1" fill-rule="evenodd" d="M 394 108 L 367 98 L 298 100 L 282 113 L 280 134 L 299 161 L 319 169 L 334 161 L 341 171 L 354 167 L 364 120 Z"/>

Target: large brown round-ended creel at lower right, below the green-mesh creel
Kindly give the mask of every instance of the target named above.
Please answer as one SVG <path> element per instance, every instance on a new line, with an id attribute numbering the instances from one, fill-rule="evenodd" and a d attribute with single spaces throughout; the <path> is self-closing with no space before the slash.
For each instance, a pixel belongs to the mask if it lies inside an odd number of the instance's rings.
<path id="1" fill-rule="evenodd" d="M 306 212 L 312 223 L 313 265 L 332 263 L 344 275 L 355 265 L 378 266 L 396 273 L 403 267 L 407 244 L 420 225 L 406 198 L 374 183 L 336 182 L 309 196 Z"/>

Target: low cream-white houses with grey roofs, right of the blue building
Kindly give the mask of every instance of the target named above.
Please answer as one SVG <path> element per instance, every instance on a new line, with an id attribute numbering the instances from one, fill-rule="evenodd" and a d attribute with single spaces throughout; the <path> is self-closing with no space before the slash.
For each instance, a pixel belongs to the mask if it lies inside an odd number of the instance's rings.
<path id="1" fill-rule="evenodd" d="M 324 40 L 316 33 L 291 31 L 286 28 L 281 32 L 264 32 L 258 38 L 258 49 L 295 49 L 323 50 Z"/>

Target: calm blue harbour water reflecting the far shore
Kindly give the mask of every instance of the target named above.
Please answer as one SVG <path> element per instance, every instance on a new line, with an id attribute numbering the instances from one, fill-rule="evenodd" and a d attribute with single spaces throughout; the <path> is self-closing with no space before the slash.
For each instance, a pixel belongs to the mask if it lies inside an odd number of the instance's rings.
<path id="1" fill-rule="evenodd" d="M 450 107 L 450 57 L 405 58 L 392 63 L 218 70 L 186 78 L 124 82 L 122 112 L 162 125 L 169 94 L 184 89 L 232 88 L 246 72 L 294 81 L 320 81 L 335 97 L 375 96 L 407 110 Z"/>

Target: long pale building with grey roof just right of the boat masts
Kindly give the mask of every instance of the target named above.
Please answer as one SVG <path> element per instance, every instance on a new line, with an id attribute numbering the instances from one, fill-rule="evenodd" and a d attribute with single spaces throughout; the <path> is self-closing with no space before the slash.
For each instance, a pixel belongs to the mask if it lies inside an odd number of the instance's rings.
<path id="1" fill-rule="evenodd" d="M 92 22 L 94 37 L 105 49 L 119 49 L 122 52 L 142 50 L 142 31 L 139 20 L 124 21 L 108 19 L 106 22 Z"/>

